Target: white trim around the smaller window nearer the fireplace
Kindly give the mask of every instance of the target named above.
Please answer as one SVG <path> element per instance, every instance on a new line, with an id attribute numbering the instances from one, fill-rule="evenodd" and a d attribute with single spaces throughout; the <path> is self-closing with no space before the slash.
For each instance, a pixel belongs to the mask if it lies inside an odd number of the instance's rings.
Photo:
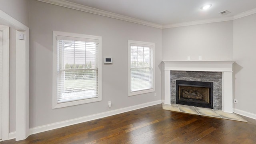
<path id="1" fill-rule="evenodd" d="M 131 44 L 152 47 L 152 56 L 153 56 L 153 80 L 152 80 L 153 82 L 152 82 L 152 85 L 153 86 L 151 89 L 131 92 Z M 138 95 L 138 94 L 146 94 L 149 92 L 155 92 L 155 43 L 128 40 L 128 96 L 134 96 L 134 95 Z"/>

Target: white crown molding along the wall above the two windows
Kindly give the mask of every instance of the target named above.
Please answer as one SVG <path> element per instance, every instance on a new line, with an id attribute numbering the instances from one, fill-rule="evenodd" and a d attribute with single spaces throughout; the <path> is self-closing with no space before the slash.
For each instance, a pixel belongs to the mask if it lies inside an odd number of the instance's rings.
<path id="1" fill-rule="evenodd" d="M 83 12 L 89 12 L 89 13 L 92 13 L 92 14 L 98 14 L 100 16 L 115 18 L 115 19 L 118 19 L 118 20 L 133 22 L 133 23 L 136 23 L 136 24 L 142 24 L 142 25 L 145 25 L 145 26 L 151 26 L 151 27 L 154 27 L 154 28 L 162 28 L 162 24 L 147 22 L 147 21 L 144 21 L 144 20 L 131 18 L 129 16 L 123 16 L 123 15 L 120 15 L 120 14 L 115 14 L 115 13 L 112 13 L 112 12 L 107 12 L 107 11 L 104 11 L 104 10 L 91 8 L 89 6 L 84 6 L 84 5 L 81 5 L 81 4 L 68 2 L 66 0 L 38 0 L 38 1 L 46 2 L 46 3 L 49 3 L 49 4 L 54 4 L 54 5 L 57 5 L 57 6 L 63 6 L 63 7 L 66 7 L 66 8 L 72 8 L 74 10 L 80 10 L 80 11 L 83 11 Z"/>

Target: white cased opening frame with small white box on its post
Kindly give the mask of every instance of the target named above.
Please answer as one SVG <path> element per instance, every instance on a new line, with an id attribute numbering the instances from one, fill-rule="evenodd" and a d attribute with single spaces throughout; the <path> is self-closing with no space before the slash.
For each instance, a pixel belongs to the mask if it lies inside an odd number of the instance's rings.
<path id="1" fill-rule="evenodd" d="M 29 133 L 29 28 L 0 10 L 0 24 L 9 26 L 16 30 L 16 132 L 12 136 L 9 133 L 9 120 L 6 125 L 8 129 L 8 136 L 6 132 L 2 136 L 2 140 L 16 138 L 18 140 L 26 139 Z M 24 39 L 19 35 L 23 34 Z M 10 43 L 10 42 L 9 42 Z M 17 53 L 18 51 L 18 53 Z M 8 60 L 9 61 L 9 60 Z M 19 75 L 17 72 L 22 73 Z M 9 84 L 8 84 L 9 86 Z M 8 95 L 9 97 L 9 95 Z M 9 100 L 9 99 L 8 99 Z M 8 102 L 9 104 L 9 102 Z M 9 106 L 8 106 L 9 108 Z M 7 115 L 7 114 L 6 114 Z M 8 112 L 9 118 L 9 112 Z"/>

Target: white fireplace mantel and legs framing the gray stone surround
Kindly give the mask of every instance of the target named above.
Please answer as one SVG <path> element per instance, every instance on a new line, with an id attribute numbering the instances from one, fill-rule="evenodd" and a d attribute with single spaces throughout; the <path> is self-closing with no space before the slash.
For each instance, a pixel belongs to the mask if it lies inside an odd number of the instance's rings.
<path id="1" fill-rule="evenodd" d="M 237 60 L 164 60 L 164 104 L 170 100 L 170 71 L 222 72 L 222 110 L 233 110 L 233 63 Z"/>

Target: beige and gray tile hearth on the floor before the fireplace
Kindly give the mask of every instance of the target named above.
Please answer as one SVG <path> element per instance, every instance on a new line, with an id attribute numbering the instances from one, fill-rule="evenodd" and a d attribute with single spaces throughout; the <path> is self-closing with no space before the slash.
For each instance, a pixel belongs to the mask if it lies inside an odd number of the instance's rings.
<path id="1" fill-rule="evenodd" d="M 163 104 L 163 110 L 170 110 L 174 112 L 183 112 L 187 114 L 195 114 L 200 116 L 207 116 L 212 118 L 223 118 L 227 120 L 236 120 L 241 122 L 247 122 L 244 118 L 234 113 L 223 112 L 222 110 L 214 110 L 210 108 L 200 108 L 196 106 L 186 106 L 180 104 Z"/>

